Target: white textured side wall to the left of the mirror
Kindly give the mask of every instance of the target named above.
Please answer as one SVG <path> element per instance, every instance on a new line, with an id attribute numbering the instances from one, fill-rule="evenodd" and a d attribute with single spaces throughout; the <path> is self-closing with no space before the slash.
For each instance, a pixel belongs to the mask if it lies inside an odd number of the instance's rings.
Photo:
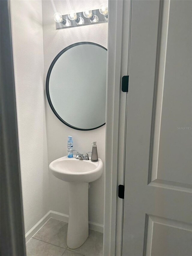
<path id="1" fill-rule="evenodd" d="M 41 1 L 11 1 L 11 25 L 26 233 L 49 211 Z"/>

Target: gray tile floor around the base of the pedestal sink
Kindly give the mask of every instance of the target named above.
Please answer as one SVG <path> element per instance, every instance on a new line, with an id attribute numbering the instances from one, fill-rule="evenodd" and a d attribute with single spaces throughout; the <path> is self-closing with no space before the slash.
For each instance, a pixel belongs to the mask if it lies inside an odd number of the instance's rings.
<path id="1" fill-rule="evenodd" d="M 26 243 L 27 256 L 102 256 L 103 233 L 89 229 L 85 243 L 77 248 L 67 247 L 67 222 L 50 218 Z"/>

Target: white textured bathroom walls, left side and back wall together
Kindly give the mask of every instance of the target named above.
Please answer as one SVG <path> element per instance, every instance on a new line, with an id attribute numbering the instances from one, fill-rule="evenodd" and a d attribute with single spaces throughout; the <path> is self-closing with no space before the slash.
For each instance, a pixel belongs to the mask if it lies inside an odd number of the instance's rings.
<path id="1" fill-rule="evenodd" d="M 77 131 L 55 117 L 47 100 L 46 121 L 44 110 L 46 73 L 63 48 L 80 41 L 95 42 L 107 48 L 107 23 L 56 31 L 53 14 L 56 11 L 65 14 L 72 8 L 83 11 L 87 6 L 97 9 L 102 2 L 11 1 L 25 233 L 49 210 L 68 214 L 67 183 L 53 177 L 48 170 L 52 160 L 67 155 L 67 135 L 73 136 L 74 149 L 82 153 L 91 151 L 91 142 L 96 140 L 98 155 L 105 162 L 105 126 L 93 131 Z M 103 224 L 103 215 L 104 175 L 90 183 L 89 220 Z"/>

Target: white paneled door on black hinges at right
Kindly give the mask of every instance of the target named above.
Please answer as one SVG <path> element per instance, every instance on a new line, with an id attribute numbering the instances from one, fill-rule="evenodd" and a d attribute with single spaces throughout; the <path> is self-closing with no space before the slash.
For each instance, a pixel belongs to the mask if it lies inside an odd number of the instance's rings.
<path id="1" fill-rule="evenodd" d="M 192 255 L 192 1 L 133 1 L 123 256 Z"/>

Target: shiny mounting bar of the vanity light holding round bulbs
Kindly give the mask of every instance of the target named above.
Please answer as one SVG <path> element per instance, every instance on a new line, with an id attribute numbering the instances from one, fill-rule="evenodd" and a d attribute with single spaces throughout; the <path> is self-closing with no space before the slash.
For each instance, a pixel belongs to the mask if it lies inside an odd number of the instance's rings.
<path id="1" fill-rule="evenodd" d="M 108 21 L 105 19 L 105 16 L 99 12 L 99 9 L 92 10 L 92 13 L 93 13 L 94 15 L 97 15 L 97 16 L 98 16 L 98 18 L 99 18 L 99 21 L 98 21 L 98 22 L 91 23 L 91 20 L 90 20 L 89 18 L 85 18 L 85 16 L 83 15 L 83 12 L 77 12 L 77 16 L 78 16 L 78 17 L 82 17 L 82 18 L 84 19 L 84 24 L 82 24 L 82 25 L 77 25 L 77 23 L 76 23 L 75 20 L 70 20 L 71 26 L 69 26 L 69 27 L 64 27 L 62 23 L 55 22 L 55 23 L 56 23 L 56 29 L 69 29 L 69 28 L 71 28 L 71 27 L 80 27 L 80 26 L 86 26 L 86 25 L 92 25 L 92 24 L 98 24 L 98 23 L 108 22 Z M 63 17 L 63 19 L 65 19 L 65 20 L 69 20 L 67 14 L 62 15 L 62 17 Z"/>

